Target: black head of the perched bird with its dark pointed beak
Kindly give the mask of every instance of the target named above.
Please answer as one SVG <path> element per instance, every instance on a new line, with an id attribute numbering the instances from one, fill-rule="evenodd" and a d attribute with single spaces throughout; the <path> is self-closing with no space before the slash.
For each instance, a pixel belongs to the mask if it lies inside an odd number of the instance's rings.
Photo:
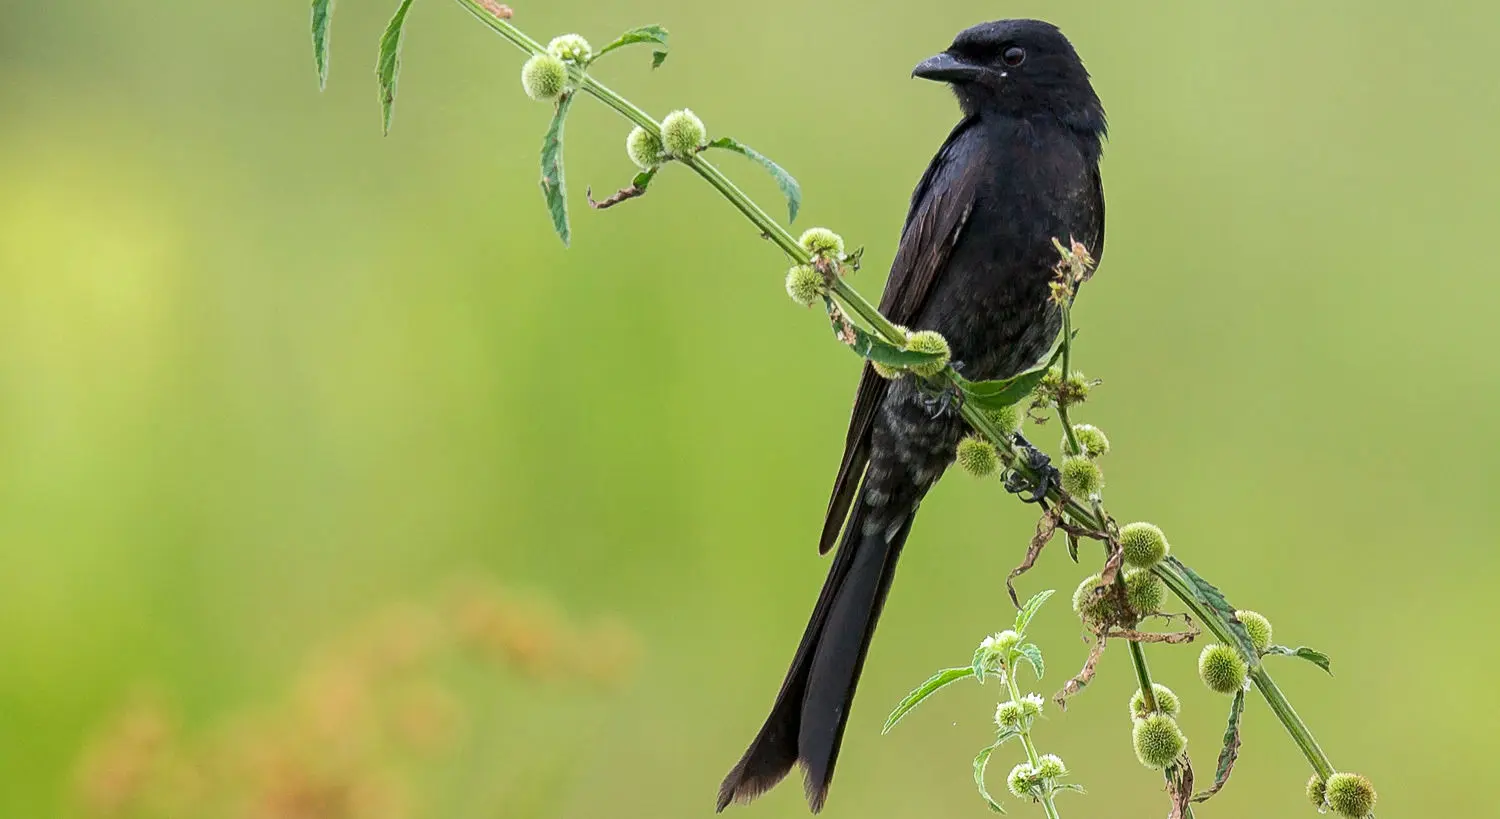
<path id="1" fill-rule="evenodd" d="M 1077 130 L 1104 135 L 1100 104 L 1068 38 L 1040 20 L 998 20 L 958 32 L 946 51 L 912 76 L 952 86 L 968 114 L 1052 114 Z"/>

